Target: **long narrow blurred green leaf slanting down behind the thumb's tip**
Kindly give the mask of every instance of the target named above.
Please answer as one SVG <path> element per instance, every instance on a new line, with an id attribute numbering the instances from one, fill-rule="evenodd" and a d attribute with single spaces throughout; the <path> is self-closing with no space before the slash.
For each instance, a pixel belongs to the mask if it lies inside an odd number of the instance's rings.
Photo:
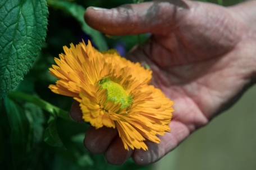
<path id="1" fill-rule="evenodd" d="M 76 4 L 74 2 L 71 3 L 67 1 L 48 0 L 47 3 L 49 4 L 49 6 L 60 8 L 61 10 L 64 10 L 70 13 L 70 15 L 76 18 L 76 20 L 80 23 L 82 30 L 85 32 L 85 34 L 88 34 L 92 37 L 93 42 L 95 43 L 95 45 L 97 45 L 100 51 L 108 49 L 106 40 L 104 39 L 104 36 L 102 35 L 102 33 L 92 29 L 85 23 L 84 12 L 86 10 L 83 6 L 80 6 L 79 4 Z"/>

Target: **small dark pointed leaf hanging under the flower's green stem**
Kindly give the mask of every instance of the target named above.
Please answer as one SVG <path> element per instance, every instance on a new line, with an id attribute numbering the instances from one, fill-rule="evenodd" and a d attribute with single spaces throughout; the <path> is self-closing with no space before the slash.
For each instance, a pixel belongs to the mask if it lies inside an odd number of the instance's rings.
<path id="1" fill-rule="evenodd" d="M 48 128 L 44 131 L 44 141 L 51 145 L 52 147 L 61 147 L 66 149 L 63 145 L 60 136 L 58 135 L 58 131 L 56 128 L 56 119 L 57 116 L 50 116 L 48 120 Z"/>

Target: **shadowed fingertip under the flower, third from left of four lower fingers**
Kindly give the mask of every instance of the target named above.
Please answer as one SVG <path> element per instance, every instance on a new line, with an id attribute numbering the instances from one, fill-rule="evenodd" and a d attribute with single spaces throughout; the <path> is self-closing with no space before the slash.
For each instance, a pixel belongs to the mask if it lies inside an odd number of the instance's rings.
<path id="1" fill-rule="evenodd" d="M 107 151 L 104 153 L 104 157 L 109 164 L 120 166 L 131 157 L 133 152 L 134 150 L 131 148 L 126 150 L 121 138 L 116 136 L 111 145 L 109 145 Z"/>

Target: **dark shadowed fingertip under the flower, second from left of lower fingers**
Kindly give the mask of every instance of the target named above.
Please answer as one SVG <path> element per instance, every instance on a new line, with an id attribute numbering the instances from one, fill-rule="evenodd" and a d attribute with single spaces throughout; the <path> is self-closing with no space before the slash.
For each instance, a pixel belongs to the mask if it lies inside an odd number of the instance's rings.
<path id="1" fill-rule="evenodd" d="M 93 126 L 90 126 L 85 134 L 84 146 L 91 153 L 101 154 L 107 150 L 111 141 L 115 139 L 116 136 L 116 129 L 107 128 L 106 126 L 95 129 Z"/>

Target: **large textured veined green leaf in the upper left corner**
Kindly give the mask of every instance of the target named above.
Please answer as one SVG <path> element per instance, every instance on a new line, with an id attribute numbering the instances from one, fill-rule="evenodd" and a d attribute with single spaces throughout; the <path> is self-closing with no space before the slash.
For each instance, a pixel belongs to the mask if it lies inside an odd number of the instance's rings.
<path id="1" fill-rule="evenodd" d="M 45 0 L 0 1 L 0 98 L 31 68 L 46 36 L 47 17 Z"/>

